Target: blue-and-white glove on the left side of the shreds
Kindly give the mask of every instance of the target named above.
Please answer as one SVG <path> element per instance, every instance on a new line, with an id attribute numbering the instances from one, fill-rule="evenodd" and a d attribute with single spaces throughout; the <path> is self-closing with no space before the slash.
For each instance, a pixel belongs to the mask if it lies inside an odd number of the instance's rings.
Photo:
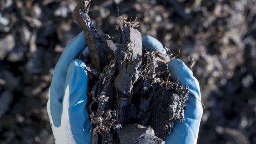
<path id="1" fill-rule="evenodd" d="M 87 102 L 87 72 L 81 60 L 74 60 L 86 47 L 84 33 L 65 47 L 54 69 L 47 113 L 56 144 L 90 144 Z"/>

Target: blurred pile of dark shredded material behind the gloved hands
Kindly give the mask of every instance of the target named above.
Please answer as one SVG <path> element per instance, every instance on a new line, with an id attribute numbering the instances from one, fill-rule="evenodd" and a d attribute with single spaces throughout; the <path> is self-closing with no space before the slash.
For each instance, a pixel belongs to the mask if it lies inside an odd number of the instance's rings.
<path id="1" fill-rule="evenodd" d="M 54 65 L 82 29 L 77 0 L 0 0 L 0 143 L 52 144 L 46 103 Z M 256 0 L 92 0 L 100 33 L 117 40 L 137 18 L 180 59 L 196 60 L 204 114 L 198 144 L 256 144 Z"/>

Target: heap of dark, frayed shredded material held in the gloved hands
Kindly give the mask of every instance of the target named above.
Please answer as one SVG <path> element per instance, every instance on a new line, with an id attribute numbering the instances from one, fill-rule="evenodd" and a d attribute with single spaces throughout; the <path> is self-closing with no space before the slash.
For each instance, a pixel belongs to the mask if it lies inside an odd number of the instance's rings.
<path id="1" fill-rule="evenodd" d="M 100 35 L 88 16 L 91 0 L 80 0 L 73 17 L 84 29 L 90 58 L 88 102 L 93 144 L 162 144 L 174 121 L 184 121 L 188 87 L 171 80 L 161 52 L 142 52 L 135 21 L 120 17 L 118 43 Z M 81 58 L 81 57 L 80 57 Z"/>

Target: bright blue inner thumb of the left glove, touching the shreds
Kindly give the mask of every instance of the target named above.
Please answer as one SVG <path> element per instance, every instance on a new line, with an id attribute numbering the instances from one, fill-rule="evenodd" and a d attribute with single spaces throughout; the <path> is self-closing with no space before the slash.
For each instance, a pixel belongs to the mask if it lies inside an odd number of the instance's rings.
<path id="1" fill-rule="evenodd" d="M 81 60 L 73 60 L 68 67 L 61 122 L 70 126 L 77 144 L 91 143 L 90 121 L 85 109 L 87 103 L 87 72 Z M 63 124 L 61 124 L 63 125 Z"/>

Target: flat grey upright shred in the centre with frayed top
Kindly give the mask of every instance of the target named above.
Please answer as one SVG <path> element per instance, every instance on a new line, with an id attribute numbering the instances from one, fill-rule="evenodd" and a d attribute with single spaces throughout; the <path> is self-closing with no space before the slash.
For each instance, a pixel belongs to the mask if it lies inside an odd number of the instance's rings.
<path id="1" fill-rule="evenodd" d="M 118 75 L 115 87 L 129 98 L 133 85 L 139 78 L 142 59 L 141 33 L 134 29 L 137 23 L 126 22 L 120 17 L 118 48 L 115 57 L 118 62 Z"/>

